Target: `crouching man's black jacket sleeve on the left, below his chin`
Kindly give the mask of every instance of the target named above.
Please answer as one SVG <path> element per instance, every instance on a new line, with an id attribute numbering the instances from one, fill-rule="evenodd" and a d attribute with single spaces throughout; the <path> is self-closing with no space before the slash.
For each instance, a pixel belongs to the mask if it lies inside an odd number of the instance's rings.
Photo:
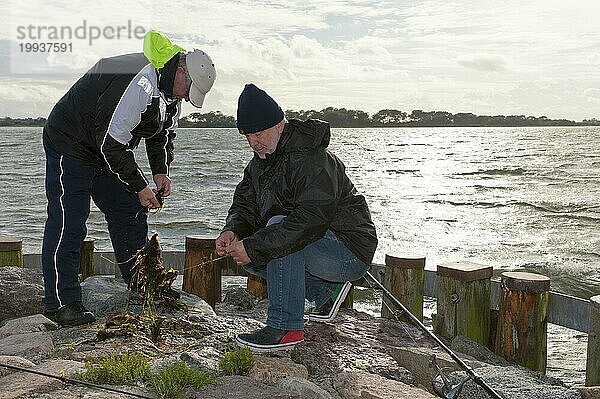
<path id="1" fill-rule="evenodd" d="M 250 165 L 244 169 L 244 177 L 235 188 L 233 203 L 229 208 L 223 231 L 233 231 L 240 239 L 254 233 L 259 226 L 260 215 L 256 205 L 256 192 L 250 176 Z"/>

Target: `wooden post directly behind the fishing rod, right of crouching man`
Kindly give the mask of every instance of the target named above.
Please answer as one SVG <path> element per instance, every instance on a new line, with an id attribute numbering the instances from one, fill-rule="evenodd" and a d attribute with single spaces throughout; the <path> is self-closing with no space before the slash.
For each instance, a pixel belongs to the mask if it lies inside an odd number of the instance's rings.
<path id="1" fill-rule="evenodd" d="M 423 321 L 423 290 L 425 284 L 425 257 L 385 255 L 383 286 L 388 289 L 408 310 Z M 381 316 L 393 319 L 398 308 L 390 298 L 383 296 Z M 402 317 L 401 320 L 408 320 Z"/>

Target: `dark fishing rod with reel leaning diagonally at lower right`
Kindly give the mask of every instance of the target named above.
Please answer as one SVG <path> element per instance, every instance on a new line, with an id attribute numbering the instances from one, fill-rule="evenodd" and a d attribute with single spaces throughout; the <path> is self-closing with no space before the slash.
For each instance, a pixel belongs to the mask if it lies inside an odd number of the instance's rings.
<path id="1" fill-rule="evenodd" d="M 450 355 L 452 360 L 454 360 L 467 373 L 466 379 L 462 380 L 461 382 L 459 382 L 456 385 L 452 385 L 451 381 L 448 379 L 448 377 L 446 377 L 442 373 L 442 370 L 435 362 L 435 355 L 432 355 L 432 357 L 429 359 L 429 364 L 431 367 L 434 367 L 437 370 L 438 375 L 441 376 L 440 380 L 436 379 L 433 382 L 433 388 L 439 396 L 441 396 L 445 399 L 457 398 L 458 394 L 460 393 L 460 391 L 462 389 L 463 384 L 465 382 L 467 382 L 469 379 L 472 379 L 477 385 L 482 387 L 485 390 L 485 392 L 488 395 L 490 395 L 490 397 L 492 397 L 493 399 L 504 399 L 502 397 L 502 395 L 500 395 L 496 390 L 494 390 L 494 388 L 489 386 L 483 380 L 483 378 L 481 378 L 481 376 L 473 370 L 473 368 L 471 366 L 469 366 L 460 357 L 458 357 L 458 355 L 456 353 L 454 353 L 454 351 L 452 349 L 450 349 L 446 344 L 444 344 L 442 342 L 442 340 L 439 339 L 434 333 L 429 331 L 427 329 L 427 327 L 425 327 L 425 324 L 423 324 L 421 322 L 421 320 L 419 320 L 414 314 L 412 314 L 408 310 L 408 308 L 406 308 L 406 306 L 404 306 L 402 304 L 402 302 L 400 302 L 390 291 L 388 291 L 383 286 L 383 284 L 381 284 L 375 277 L 373 277 L 371 272 L 367 271 L 367 275 L 371 278 L 371 280 L 373 280 L 375 282 L 375 284 L 377 284 L 379 286 L 379 288 L 381 288 L 383 290 L 385 295 L 387 295 L 388 298 L 390 298 L 406 314 L 406 316 L 408 316 L 408 318 L 413 323 L 415 323 L 421 330 L 425 331 L 425 333 L 427 335 L 429 335 L 439 346 L 441 346 L 442 349 L 444 349 L 446 351 L 446 353 L 448 353 L 448 355 Z"/>

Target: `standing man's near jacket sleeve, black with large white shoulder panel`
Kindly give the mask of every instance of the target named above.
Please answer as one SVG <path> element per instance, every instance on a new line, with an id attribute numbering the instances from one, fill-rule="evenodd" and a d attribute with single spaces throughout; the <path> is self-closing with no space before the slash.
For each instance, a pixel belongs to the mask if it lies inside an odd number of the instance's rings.
<path id="1" fill-rule="evenodd" d="M 115 93 L 121 93 L 118 87 L 127 83 L 125 79 L 127 75 L 116 77 L 101 94 L 95 128 L 102 132 L 99 146 L 108 168 L 129 190 L 137 193 L 148 185 L 148 180 L 136 163 L 128 142 L 132 138 L 131 131 L 140 123 L 142 112 L 151 101 L 152 87 L 143 75 L 138 74 L 117 99 Z"/>

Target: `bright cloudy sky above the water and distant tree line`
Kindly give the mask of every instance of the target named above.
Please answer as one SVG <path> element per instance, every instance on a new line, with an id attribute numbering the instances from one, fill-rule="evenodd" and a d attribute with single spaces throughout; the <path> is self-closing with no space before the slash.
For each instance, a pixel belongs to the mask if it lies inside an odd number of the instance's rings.
<path id="1" fill-rule="evenodd" d="M 235 115 L 252 82 L 283 109 L 600 119 L 598 15 L 597 0 L 5 0 L 0 117 L 47 116 L 98 59 L 142 51 L 137 28 L 212 57 L 215 85 L 183 115 Z M 26 51 L 40 41 L 70 47 Z"/>

